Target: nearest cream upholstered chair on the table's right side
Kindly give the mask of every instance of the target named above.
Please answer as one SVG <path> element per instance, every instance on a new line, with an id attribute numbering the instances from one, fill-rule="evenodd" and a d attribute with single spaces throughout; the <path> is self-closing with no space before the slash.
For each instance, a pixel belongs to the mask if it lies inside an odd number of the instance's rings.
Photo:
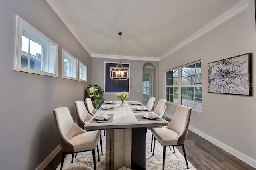
<path id="1" fill-rule="evenodd" d="M 184 153 L 185 162 L 188 168 L 188 161 L 186 158 L 184 142 L 186 141 L 186 138 L 188 136 L 188 125 L 190 121 L 191 109 L 192 109 L 191 107 L 178 105 L 174 113 L 174 116 L 172 118 L 172 121 L 170 121 L 167 127 L 152 128 L 152 134 L 155 137 L 152 156 L 154 156 L 155 144 L 157 139 L 158 142 L 164 147 L 163 148 L 163 170 L 164 170 L 164 164 L 165 164 L 166 146 L 181 145 Z M 175 150 L 173 151 L 175 153 Z"/>

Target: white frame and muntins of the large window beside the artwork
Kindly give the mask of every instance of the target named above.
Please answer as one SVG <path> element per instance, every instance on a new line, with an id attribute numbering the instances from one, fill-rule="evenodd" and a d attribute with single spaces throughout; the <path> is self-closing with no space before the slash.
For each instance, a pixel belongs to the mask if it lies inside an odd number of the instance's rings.
<path id="1" fill-rule="evenodd" d="M 202 93 L 202 83 L 201 84 L 198 84 L 198 85 L 182 85 L 182 68 L 183 67 L 188 67 L 188 66 L 190 66 L 190 65 L 196 65 L 196 64 L 198 64 L 198 63 L 201 63 L 201 61 L 199 60 L 199 61 L 195 61 L 195 62 L 193 62 L 193 63 L 189 63 L 189 64 L 186 64 L 186 65 L 182 65 L 182 66 L 180 66 L 180 67 L 176 67 L 176 68 L 174 68 L 174 69 L 170 69 L 170 70 L 168 70 L 168 71 L 164 71 L 164 98 L 166 99 L 166 87 L 176 87 L 177 88 L 177 92 L 178 92 L 178 102 L 177 103 L 175 103 L 175 102 L 172 102 L 172 101 L 169 101 L 169 100 L 167 100 L 168 102 L 170 102 L 170 103 L 174 103 L 175 105 L 182 105 L 182 87 L 200 87 L 201 88 L 201 93 Z M 174 70 L 178 70 L 178 85 L 167 85 L 167 73 L 169 72 L 169 71 L 174 71 Z M 196 74 L 195 74 L 196 75 Z M 170 78 L 169 78 L 170 79 Z M 201 79 L 202 79 L 202 66 L 201 66 Z M 169 95 L 170 95 L 170 92 L 168 93 Z M 201 100 L 202 100 L 202 97 L 201 97 Z M 197 111 L 197 112 L 199 112 L 199 113 L 201 113 L 202 112 L 202 109 L 197 109 L 197 108 L 195 108 L 195 107 L 192 107 L 192 109 L 193 110 L 195 110 L 195 111 Z"/>

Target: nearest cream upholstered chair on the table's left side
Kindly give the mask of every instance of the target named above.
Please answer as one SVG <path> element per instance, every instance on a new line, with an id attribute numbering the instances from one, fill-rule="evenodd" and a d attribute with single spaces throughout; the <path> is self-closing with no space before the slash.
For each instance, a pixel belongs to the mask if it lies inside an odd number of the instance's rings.
<path id="1" fill-rule="evenodd" d="M 98 151 L 98 161 L 100 161 L 98 140 L 100 130 L 87 132 L 80 128 L 72 119 L 68 108 L 59 107 L 53 110 L 54 121 L 62 149 L 61 166 L 62 170 L 65 154 L 92 151 L 94 169 L 96 169 L 95 149 Z"/>

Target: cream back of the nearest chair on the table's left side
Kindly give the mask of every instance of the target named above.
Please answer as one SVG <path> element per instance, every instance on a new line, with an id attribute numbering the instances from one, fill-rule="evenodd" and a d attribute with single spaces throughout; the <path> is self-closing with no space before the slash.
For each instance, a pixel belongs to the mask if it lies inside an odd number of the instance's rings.
<path id="1" fill-rule="evenodd" d="M 73 145 L 69 140 L 77 134 L 84 133 L 86 131 L 76 125 L 68 108 L 66 107 L 54 109 L 53 116 L 62 151 L 66 153 L 74 152 Z"/>

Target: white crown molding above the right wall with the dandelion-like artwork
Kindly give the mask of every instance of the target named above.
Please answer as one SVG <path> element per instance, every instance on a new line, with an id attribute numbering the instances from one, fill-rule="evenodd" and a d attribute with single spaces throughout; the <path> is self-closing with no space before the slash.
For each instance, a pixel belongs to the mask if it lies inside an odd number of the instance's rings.
<path id="1" fill-rule="evenodd" d="M 203 28 L 201 28 L 200 30 L 198 30 L 196 33 L 192 34 L 192 36 L 186 38 L 184 41 L 182 41 L 181 43 L 179 43 L 178 45 L 176 45 L 175 47 L 173 47 L 172 49 L 170 49 L 168 52 L 164 53 L 162 56 L 159 57 L 159 61 L 165 57 L 167 57 L 168 55 L 174 53 L 175 51 L 177 51 L 178 49 L 184 47 L 185 45 L 187 45 L 188 43 L 196 40 L 197 38 L 199 38 L 200 36 L 206 34 L 207 32 L 209 32 L 210 30 L 216 28 L 217 26 L 219 26 L 220 24 L 226 22 L 227 20 L 229 20 L 230 18 L 236 16 L 237 14 L 239 14 L 240 12 L 244 11 L 246 8 L 248 8 L 248 2 L 247 0 L 242 0 L 241 2 L 239 2 L 238 4 L 236 4 L 235 6 L 233 6 L 232 8 L 230 8 L 228 11 L 226 11 L 225 13 L 223 13 L 222 15 L 220 15 L 218 18 L 214 19 L 212 22 L 210 22 L 209 24 L 207 24 L 206 26 L 204 26 Z"/>

